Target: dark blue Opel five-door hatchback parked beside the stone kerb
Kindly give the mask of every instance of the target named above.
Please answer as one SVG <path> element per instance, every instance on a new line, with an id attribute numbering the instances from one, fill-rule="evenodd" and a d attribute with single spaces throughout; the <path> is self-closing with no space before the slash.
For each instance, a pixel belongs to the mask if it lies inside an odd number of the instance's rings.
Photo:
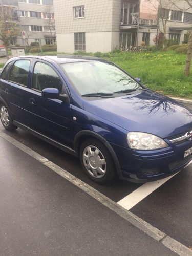
<path id="1" fill-rule="evenodd" d="M 105 59 L 11 58 L 0 113 L 6 130 L 19 127 L 79 157 L 100 184 L 154 181 L 192 160 L 192 112 Z"/>

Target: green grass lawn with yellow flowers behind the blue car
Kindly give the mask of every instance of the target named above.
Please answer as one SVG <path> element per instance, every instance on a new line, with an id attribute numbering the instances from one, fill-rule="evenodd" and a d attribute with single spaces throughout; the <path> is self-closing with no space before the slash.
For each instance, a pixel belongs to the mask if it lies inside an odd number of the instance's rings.
<path id="1" fill-rule="evenodd" d="M 57 52 L 44 54 L 57 54 Z M 103 54 L 79 52 L 75 54 L 95 55 L 108 59 L 132 76 L 140 77 L 141 82 L 152 90 L 168 96 L 192 99 L 192 66 L 189 77 L 183 74 L 186 54 L 177 54 L 175 51 Z"/>

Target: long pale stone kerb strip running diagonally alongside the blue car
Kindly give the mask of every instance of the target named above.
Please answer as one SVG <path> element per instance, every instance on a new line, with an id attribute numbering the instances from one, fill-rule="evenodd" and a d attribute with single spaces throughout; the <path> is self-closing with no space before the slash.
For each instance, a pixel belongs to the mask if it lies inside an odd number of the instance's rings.
<path id="1" fill-rule="evenodd" d="M 30 155 L 31 157 L 35 158 L 37 161 L 39 161 L 41 164 L 46 165 L 50 169 L 52 169 L 54 172 L 62 176 L 63 178 L 70 181 L 75 186 L 79 187 L 86 193 L 88 193 L 90 196 L 92 196 L 94 199 L 105 205 L 106 207 L 110 208 L 116 214 L 124 218 L 125 220 L 132 223 L 132 225 L 136 226 L 137 228 L 144 231 L 148 236 L 154 238 L 155 240 L 162 243 L 164 246 L 169 248 L 170 250 L 176 252 L 180 256 L 192 256 L 192 250 L 187 248 L 185 245 L 179 243 L 173 238 L 170 238 L 165 233 L 161 232 L 159 229 L 153 227 L 151 224 L 147 223 L 146 221 L 143 221 L 141 218 L 137 217 L 136 215 L 132 214 L 129 210 L 126 210 L 121 205 L 115 203 L 110 198 L 104 196 L 99 191 L 94 189 L 93 187 L 89 186 L 88 184 L 82 182 L 72 174 L 68 173 L 65 169 L 62 169 L 58 165 L 54 164 L 53 162 L 49 161 L 48 159 L 40 156 L 35 151 L 31 150 L 31 148 L 24 146 L 22 143 L 18 142 L 17 140 L 13 139 L 9 135 L 3 133 L 0 131 L 0 137 L 4 138 L 5 140 L 9 141 L 16 147 L 18 147 L 20 150 L 24 151 L 26 154 Z M 170 177 L 169 177 L 170 178 Z M 144 185 L 143 185 L 144 186 Z"/>

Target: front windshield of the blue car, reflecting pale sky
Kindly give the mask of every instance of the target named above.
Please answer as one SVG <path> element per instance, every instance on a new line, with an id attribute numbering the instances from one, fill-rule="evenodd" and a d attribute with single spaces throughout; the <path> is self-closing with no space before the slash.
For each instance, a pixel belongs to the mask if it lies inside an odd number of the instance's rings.
<path id="1" fill-rule="evenodd" d="M 82 96 L 121 93 L 121 91 L 126 93 L 126 91 L 142 89 L 129 75 L 108 62 L 75 62 L 62 64 L 62 67 Z"/>

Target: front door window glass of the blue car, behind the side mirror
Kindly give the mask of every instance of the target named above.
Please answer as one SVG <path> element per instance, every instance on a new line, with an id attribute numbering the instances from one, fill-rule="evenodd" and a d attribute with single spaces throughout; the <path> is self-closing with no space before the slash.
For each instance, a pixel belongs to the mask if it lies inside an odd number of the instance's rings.
<path id="1" fill-rule="evenodd" d="M 56 72 L 47 64 L 37 62 L 33 71 L 32 88 L 42 91 L 45 88 L 57 88 L 62 92 L 62 81 Z"/>

